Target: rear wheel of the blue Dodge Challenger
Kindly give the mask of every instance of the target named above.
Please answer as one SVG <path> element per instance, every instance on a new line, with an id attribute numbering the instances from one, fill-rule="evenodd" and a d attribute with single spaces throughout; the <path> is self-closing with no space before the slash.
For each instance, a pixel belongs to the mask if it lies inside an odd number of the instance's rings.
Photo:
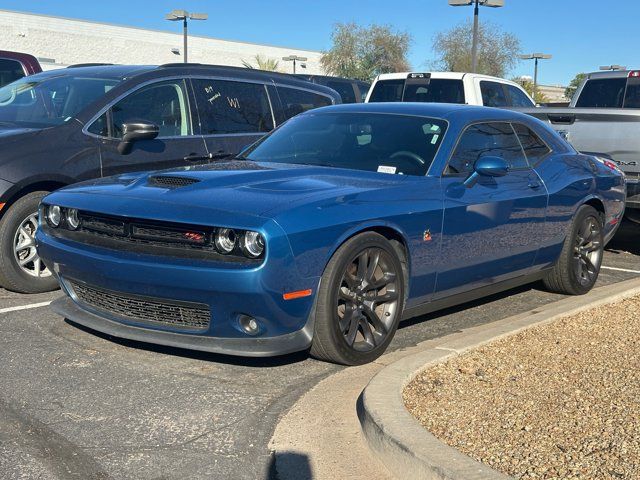
<path id="1" fill-rule="evenodd" d="M 545 287 L 565 295 L 589 292 L 600 273 L 604 254 L 602 217 L 589 205 L 578 209 L 560 258 L 544 279 Z"/>

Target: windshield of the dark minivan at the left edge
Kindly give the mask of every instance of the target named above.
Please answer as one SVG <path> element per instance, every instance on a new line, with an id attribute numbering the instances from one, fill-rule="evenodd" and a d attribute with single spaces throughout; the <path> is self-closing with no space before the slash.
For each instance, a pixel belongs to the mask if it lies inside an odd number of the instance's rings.
<path id="1" fill-rule="evenodd" d="M 0 122 L 34 128 L 60 125 L 120 81 L 72 75 L 22 78 L 0 88 Z"/>

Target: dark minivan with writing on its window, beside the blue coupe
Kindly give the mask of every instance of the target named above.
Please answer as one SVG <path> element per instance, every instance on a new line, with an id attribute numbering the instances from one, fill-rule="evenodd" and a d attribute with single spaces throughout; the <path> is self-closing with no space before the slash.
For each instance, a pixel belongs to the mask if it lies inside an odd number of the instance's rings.
<path id="1" fill-rule="evenodd" d="M 82 66 L 0 88 L 0 285 L 57 287 L 34 244 L 47 192 L 232 157 L 290 117 L 334 103 L 335 91 L 290 75 L 198 64 Z"/>

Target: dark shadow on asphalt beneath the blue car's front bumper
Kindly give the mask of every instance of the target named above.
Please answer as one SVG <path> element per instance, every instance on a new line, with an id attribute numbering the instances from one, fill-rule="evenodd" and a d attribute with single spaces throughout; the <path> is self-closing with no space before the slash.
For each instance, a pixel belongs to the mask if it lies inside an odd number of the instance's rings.
<path id="1" fill-rule="evenodd" d="M 78 323 L 65 318 L 64 320 L 68 325 L 78 328 L 90 335 L 95 335 L 109 342 L 116 343 L 123 347 L 132 348 L 136 350 L 145 350 L 147 352 L 161 353 L 164 355 L 171 355 L 176 357 L 188 358 L 191 360 L 202 360 L 205 362 L 225 363 L 229 365 L 241 366 L 241 367 L 280 367 L 283 365 L 289 365 L 294 363 L 300 363 L 307 360 L 309 357 L 308 351 L 290 353 L 288 355 L 279 355 L 277 357 L 239 357 L 232 355 L 224 355 L 210 352 L 200 352 L 197 350 L 187 350 L 184 348 L 168 347 L 165 345 L 157 345 L 153 343 L 140 342 L 136 340 L 128 340 L 125 338 L 114 337 L 107 335 L 106 333 L 92 330 Z"/>

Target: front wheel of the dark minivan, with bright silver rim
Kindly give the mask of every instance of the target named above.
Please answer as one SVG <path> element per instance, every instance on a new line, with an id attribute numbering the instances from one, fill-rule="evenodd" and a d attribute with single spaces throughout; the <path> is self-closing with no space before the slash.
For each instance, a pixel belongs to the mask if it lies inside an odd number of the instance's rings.
<path id="1" fill-rule="evenodd" d="M 16 201 L 0 220 L 0 285 L 19 293 L 58 288 L 35 247 L 38 205 L 48 192 L 32 192 Z"/>

